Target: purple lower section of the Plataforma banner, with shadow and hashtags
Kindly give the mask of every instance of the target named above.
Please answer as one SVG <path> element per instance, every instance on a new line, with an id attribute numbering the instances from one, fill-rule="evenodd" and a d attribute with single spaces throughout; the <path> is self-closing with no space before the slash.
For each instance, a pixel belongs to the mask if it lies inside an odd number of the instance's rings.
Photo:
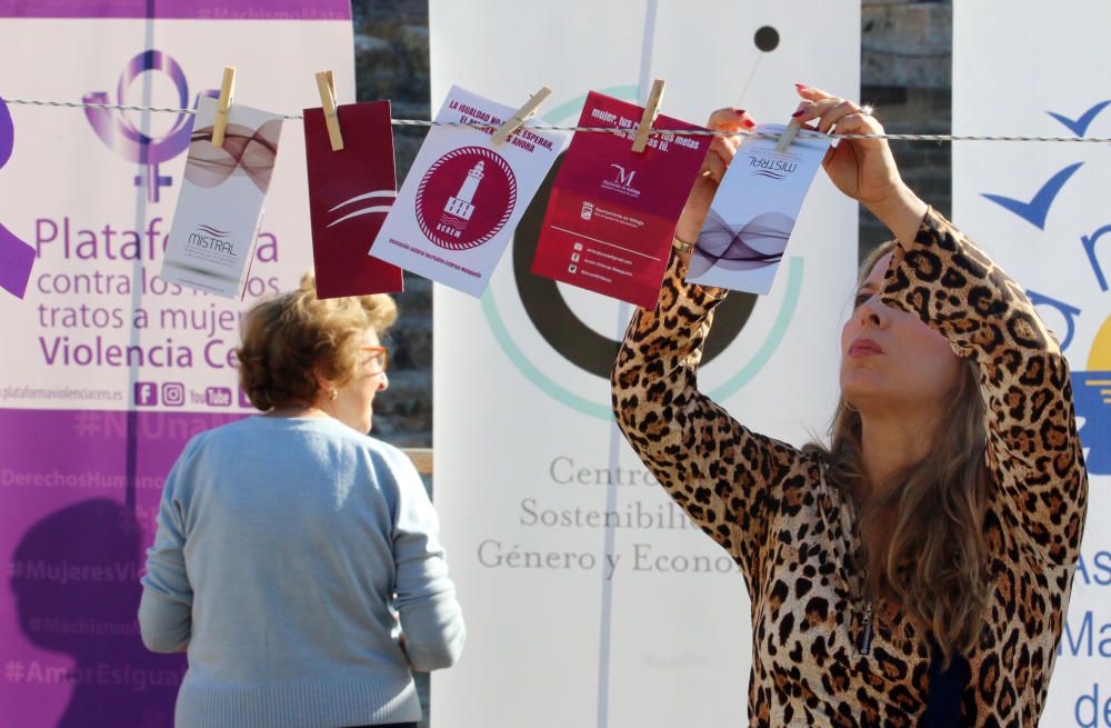
<path id="1" fill-rule="evenodd" d="M 0 409 L 0 716 L 4 726 L 169 728 L 182 656 L 139 637 L 144 554 L 170 466 L 237 419 Z"/>

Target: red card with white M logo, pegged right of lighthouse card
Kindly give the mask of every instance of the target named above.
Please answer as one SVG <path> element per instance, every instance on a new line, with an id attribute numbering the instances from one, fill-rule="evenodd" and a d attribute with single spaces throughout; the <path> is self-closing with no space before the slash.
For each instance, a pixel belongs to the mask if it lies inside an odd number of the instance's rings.
<path id="1" fill-rule="evenodd" d="M 532 272 L 638 306 L 655 305 L 675 225 L 694 186 L 709 136 L 652 134 L 643 153 L 632 139 L 643 109 L 594 93 L 580 127 L 629 129 L 574 134 L 556 177 Z M 658 117 L 654 129 L 701 129 Z"/>

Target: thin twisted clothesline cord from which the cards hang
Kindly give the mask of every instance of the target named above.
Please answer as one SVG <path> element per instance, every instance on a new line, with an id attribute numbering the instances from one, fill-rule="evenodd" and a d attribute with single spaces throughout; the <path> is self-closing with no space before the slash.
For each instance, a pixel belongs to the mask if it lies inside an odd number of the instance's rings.
<path id="1" fill-rule="evenodd" d="M 119 109 L 121 111 L 150 111 L 154 113 L 197 113 L 196 109 L 170 109 L 162 107 L 142 107 L 142 106 L 122 106 L 118 103 L 84 103 L 84 102 L 73 102 L 73 101 L 38 101 L 32 99 L 3 99 L 4 103 L 8 104 L 19 104 L 19 106 L 38 106 L 38 107 L 64 107 L 64 108 L 90 108 L 90 109 Z M 287 113 L 282 114 L 286 119 L 303 119 L 299 113 Z M 487 123 L 470 123 L 470 122 L 443 122 L 443 121 L 428 121 L 424 119 L 390 119 L 390 123 L 394 127 L 470 127 L 474 129 L 492 129 L 492 124 Z M 524 124 L 522 129 L 536 129 L 538 131 L 584 131 L 584 132 L 604 132 L 604 133 L 629 133 L 630 129 L 615 129 L 613 127 L 565 127 L 565 126 L 541 126 L 541 124 Z M 669 133 L 675 136 L 689 136 L 689 137 L 767 137 L 767 138 L 778 138 L 779 133 L 762 133 L 759 131 L 714 131 L 709 129 L 655 129 L 653 128 L 652 133 Z M 799 137 L 824 137 L 825 134 L 801 130 L 799 131 Z M 1041 141 L 1041 142 L 1091 142 L 1091 143 L 1108 143 L 1111 142 L 1111 137 L 1039 137 L 1039 136 L 1028 136 L 1028 134 L 1009 134 L 1009 136 L 994 136 L 994 134 L 838 134 L 839 139 L 887 139 L 889 141 Z"/>

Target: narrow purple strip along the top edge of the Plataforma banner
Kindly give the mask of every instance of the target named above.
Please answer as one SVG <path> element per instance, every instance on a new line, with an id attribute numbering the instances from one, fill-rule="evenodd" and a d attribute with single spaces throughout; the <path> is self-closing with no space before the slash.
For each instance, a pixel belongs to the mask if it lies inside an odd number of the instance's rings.
<path id="1" fill-rule="evenodd" d="M 350 20 L 350 0 L 0 0 L 0 18 Z"/>

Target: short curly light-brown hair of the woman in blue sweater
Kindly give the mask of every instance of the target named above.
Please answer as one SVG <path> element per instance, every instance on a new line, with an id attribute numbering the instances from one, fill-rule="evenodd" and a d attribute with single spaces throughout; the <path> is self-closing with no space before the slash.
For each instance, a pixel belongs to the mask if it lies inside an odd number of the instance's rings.
<path id="1" fill-rule="evenodd" d="M 320 393 L 316 371 L 342 385 L 357 370 L 363 331 L 381 336 L 398 318 L 386 293 L 317 298 L 312 273 L 301 287 L 256 303 L 243 320 L 239 385 L 262 411 L 290 405 L 310 405 Z"/>

